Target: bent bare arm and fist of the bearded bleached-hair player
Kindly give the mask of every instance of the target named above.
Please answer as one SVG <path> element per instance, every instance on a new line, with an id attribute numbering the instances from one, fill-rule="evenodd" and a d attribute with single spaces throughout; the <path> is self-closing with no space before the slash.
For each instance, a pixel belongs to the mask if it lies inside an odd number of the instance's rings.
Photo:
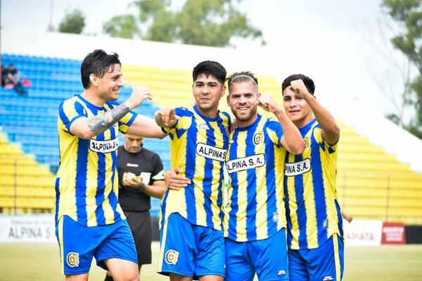
<path id="1" fill-rule="evenodd" d="M 283 128 L 283 137 L 281 138 L 281 145 L 286 148 L 288 152 L 295 155 L 302 154 L 305 150 L 305 143 L 303 142 L 300 131 L 293 122 L 288 119 L 284 110 L 279 107 L 271 96 L 260 96 L 258 98 L 260 107 L 268 112 L 274 113 Z"/>

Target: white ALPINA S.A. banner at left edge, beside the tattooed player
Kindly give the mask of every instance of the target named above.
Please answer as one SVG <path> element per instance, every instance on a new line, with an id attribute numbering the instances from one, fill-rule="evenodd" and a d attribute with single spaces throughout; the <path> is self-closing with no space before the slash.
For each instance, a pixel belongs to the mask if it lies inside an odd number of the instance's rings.
<path id="1" fill-rule="evenodd" d="M 0 242 L 56 242 L 53 215 L 0 216 Z"/>

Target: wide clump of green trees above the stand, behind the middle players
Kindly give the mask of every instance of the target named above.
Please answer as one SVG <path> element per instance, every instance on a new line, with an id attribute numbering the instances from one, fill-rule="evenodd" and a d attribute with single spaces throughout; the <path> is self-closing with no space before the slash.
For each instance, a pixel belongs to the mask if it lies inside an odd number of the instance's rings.
<path id="1" fill-rule="evenodd" d="M 241 1 L 186 0 L 180 11 L 172 11 L 171 0 L 137 0 L 133 4 L 139 8 L 139 22 L 132 23 L 136 27 L 146 27 L 145 32 L 133 32 L 132 37 L 125 38 L 134 38 L 138 34 L 141 39 L 152 41 L 222 47 L 230 46 L 231 39 L 238 37 L 260 39 L 261 44 L 265 44 L 261 30 L 250 25 L 245 13 L 238 11 Z M 119 17 L 128 19 L 131 16 Z M 103 30 L 111 36 L 124 37 L 123 32 L 113 33 L 106 29 L 106 25 L 112 23 L 120 25 L 112 19 L 104 24 Z"/>

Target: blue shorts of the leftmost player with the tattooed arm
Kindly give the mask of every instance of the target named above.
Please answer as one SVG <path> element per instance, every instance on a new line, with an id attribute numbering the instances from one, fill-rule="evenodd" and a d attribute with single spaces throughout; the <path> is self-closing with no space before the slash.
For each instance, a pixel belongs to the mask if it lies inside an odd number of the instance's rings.
<path id="1" fill-rule="evenodd" d="M 89 272 L 92 258 L 107 270 L 106 259 L 124 259 L 138 263 L 134 238 L 126 220 L 106 226 L 82 226 L 69 216 L 62 216 L 56 225 L 60 248 L 61 273 Z"/>

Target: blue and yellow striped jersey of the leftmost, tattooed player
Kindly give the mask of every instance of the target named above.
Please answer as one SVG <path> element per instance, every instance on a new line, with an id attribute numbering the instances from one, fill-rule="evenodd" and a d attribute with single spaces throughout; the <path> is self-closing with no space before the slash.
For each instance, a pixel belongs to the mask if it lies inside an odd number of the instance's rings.
<path id="1" fill-rule="evenodd" d="M 89 140 L 70 133 L 79 117 L 104 114 L 119 105 L 108 101 L 103 107 L 74 96 L 58 109 L 60 167 L 56 178 L 56 221 L 68 215 L 83 226 L 102 226 L 124 218 L 117 201 L 118 131 L 126 132 L 136 113 Z"/>

